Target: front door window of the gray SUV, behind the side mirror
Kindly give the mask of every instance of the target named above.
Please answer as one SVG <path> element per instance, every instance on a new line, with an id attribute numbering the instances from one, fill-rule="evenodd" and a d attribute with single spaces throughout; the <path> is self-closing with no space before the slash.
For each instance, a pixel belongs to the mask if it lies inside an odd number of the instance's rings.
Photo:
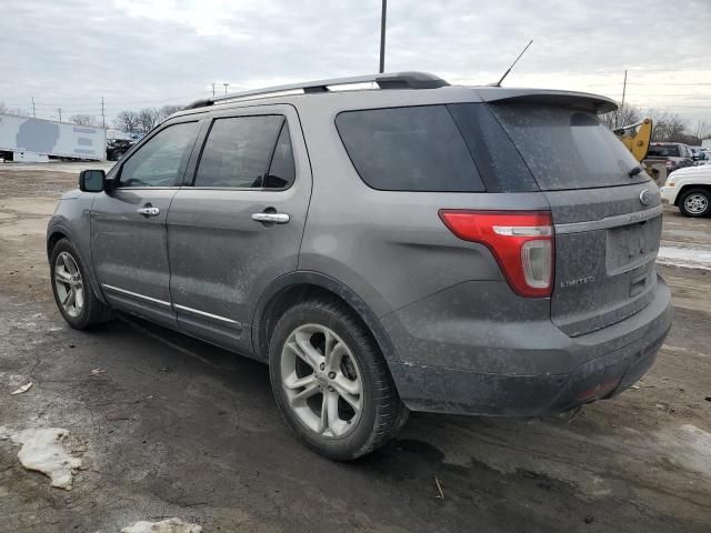
<path id="1" fill-rule="evenodd" d="M 179 184 L 198 134 L 198 122 L 169 125 L 149 139 L 121 167 L 119 187 Z"/>

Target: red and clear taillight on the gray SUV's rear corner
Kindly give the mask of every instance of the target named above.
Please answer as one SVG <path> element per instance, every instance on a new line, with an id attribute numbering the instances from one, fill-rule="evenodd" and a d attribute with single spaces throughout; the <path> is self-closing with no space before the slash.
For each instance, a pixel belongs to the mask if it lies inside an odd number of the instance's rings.
<path id="1" fill-rule="evenodd" d="M 440 219 L 460 239 L 488 247 L 518 294 L 551 295 L 554 244 L 550 212 L 442 209 Z"/>

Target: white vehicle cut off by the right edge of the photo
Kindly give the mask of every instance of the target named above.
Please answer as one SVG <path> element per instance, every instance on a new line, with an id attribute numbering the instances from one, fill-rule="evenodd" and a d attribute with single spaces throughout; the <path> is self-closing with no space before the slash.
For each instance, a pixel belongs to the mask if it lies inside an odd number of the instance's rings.
<path id="1" fill-rule="evenodd" d="M 677 205 L 687 217 L 711 215 L 711 165 L 674 170 L 660 192 L 662 201 Z"/>

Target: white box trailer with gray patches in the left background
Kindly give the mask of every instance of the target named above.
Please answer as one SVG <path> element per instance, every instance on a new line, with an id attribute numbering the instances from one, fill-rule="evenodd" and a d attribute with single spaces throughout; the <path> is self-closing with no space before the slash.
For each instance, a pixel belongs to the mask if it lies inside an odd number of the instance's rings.
<path id="1" fill-rule="evenodd" d="M 13 152 L 16 161 L 58 158 L 107 158 L 107 132 L 102 128 L 52 120 L 0 114 L 0 151 Z"/>

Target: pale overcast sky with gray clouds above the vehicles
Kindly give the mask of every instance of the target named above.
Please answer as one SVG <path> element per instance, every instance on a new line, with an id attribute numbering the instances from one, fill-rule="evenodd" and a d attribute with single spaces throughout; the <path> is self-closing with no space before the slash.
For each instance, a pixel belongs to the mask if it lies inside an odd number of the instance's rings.
<path id="1" fill-rule="evenodd" d="M 380 1 L 2 0 L 0 102 L 100 117 L 371 73 Z M 390 0 L 385 70 L 599 92 L 711 120 L 711 0 Z M 695 128 L 695 127 L 694 127 Z"/>

